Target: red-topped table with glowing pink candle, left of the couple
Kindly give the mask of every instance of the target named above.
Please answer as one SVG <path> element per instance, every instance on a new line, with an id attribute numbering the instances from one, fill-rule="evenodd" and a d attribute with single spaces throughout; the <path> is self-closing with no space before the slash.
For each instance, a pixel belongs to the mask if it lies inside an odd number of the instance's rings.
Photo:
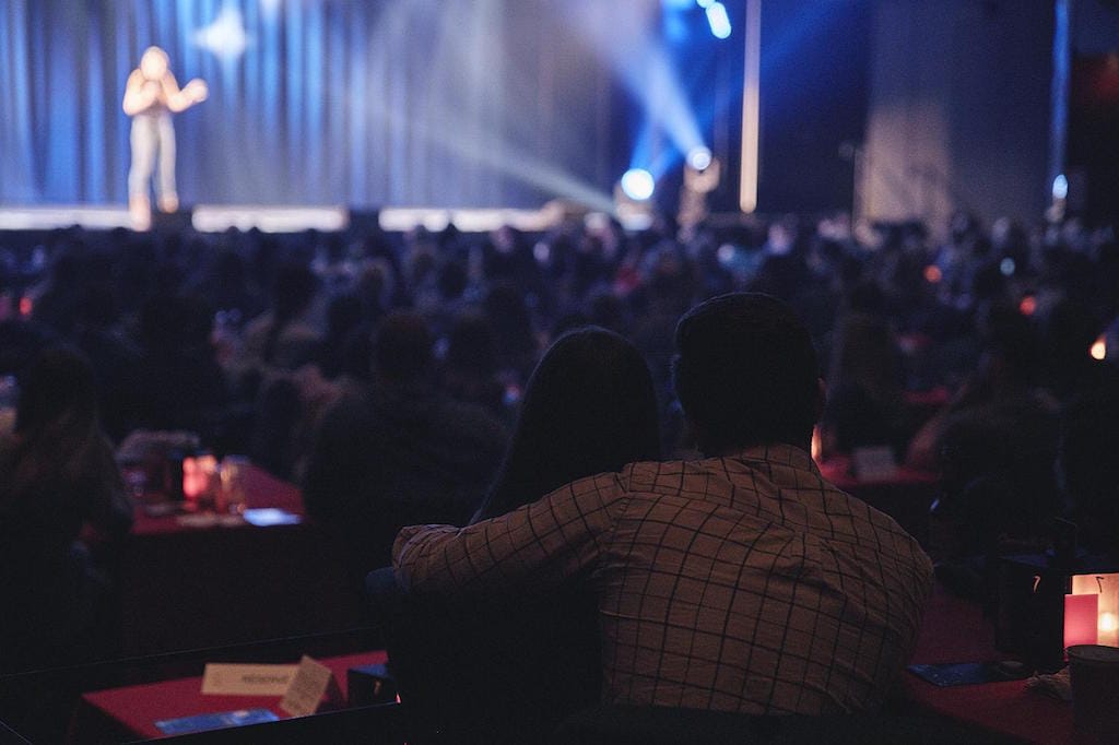
<path id="1" fill-rule="evenodd" d="M 250 508 L 303 516 L 297 487 L 247 466 Z M 151 654 L 351 629 L 360 595 L 340 541 L 298 525 L 185 527 L 138 509 L 121 562 L 124 654 Z"/>

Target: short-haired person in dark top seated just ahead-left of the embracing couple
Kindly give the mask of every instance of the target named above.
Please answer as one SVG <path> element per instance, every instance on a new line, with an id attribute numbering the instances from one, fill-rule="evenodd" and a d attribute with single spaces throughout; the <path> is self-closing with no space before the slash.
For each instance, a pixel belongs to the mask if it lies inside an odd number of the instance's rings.
<path id="1" fill-rule="evenodd" d="M 434 339 L 415 313 L 379 324 L 373 379 L 322 416 L 303 479 L 316 519 L 338 528 L 357 583 L 391 558 L 399 528 L 464 525 L 500 463 L 505 430 L 435 385 Z"/>

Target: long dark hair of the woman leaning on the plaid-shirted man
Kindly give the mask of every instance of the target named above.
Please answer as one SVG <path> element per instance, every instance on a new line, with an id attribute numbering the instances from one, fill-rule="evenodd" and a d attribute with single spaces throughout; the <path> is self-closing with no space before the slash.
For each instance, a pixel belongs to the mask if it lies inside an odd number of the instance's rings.
<path id="1" fill-rule="evenodd" d="M 525 387 L 505 463 L 477 519 L 634 461 L 660 458 L 657 397 L 637 347 L 595 327 L 544 353 Z"/>

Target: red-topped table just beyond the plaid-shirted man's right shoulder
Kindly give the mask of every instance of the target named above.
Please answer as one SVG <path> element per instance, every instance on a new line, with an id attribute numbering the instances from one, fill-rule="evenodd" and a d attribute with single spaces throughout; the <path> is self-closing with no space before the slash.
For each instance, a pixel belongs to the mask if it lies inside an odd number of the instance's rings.
<path id="1" fill-rule="evenodd" d="M 929 508 L 940 496 L 938 474 L 899 465 L 888 479 L 859 479 L 846 455 L 831 455 L 817 465 L 825 479 L 892 517 L 928 549 Z"/>

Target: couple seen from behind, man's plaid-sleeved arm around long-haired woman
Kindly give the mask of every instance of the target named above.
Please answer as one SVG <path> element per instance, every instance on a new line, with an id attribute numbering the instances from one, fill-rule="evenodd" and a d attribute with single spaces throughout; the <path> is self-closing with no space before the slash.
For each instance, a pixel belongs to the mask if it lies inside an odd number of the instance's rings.
<path id="1" fill-rule="evenodd" d="M 676 348 L 703 460 L 657 460 L 640 355 L 575 331 L 533 374 L 474 521 L 402 530 L 395 601 L 370 575 L 429 735 L 539 739 L 599 702 L 819 715 L 883 701 L 932 565 L 816 469 L 807 329 L 781 301 L 728 294 L 684 315 Z"/>

